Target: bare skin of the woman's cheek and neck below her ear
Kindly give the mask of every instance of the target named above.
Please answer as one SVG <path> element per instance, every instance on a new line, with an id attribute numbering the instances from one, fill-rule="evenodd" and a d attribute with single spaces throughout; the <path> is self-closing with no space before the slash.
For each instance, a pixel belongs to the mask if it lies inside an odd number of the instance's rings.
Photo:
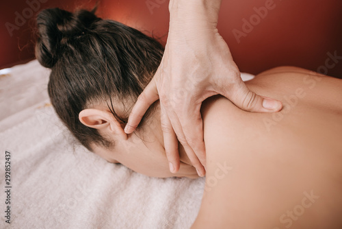
<path id="1" fill-rule="evenodd" d="M 106 110 L 107 107 L 99 106 L 96 109 Z M 160 117 L 160 112 L 157 111 L 154 116 Z M 176 174 L 170 172 L 168 169 L 168 159 L 163 147 L 160 119 L 150 120 L 150 122 L 146 123 L 143 130 L 140 130 L 137 134 L 125 134 L 122 130 L 124 128 L 123 125 L 120 126 L 120 134 L 116 134 L 118 133 L 116 129 L 113 132 L 111 130 L 103 130 L 107 135 L 114 136 L 113 141 L 116 142 L 116 145 L 114 149 L 106 149 L 93 144 L 93 152 L 109 162 L 121 163 L 133 171 L 146 176 L 157 178 L 174 176 L 198 178 L 196 169 L 191 165 L 181 145 L 179 145 L 181 161 L 179 171 Z"/>

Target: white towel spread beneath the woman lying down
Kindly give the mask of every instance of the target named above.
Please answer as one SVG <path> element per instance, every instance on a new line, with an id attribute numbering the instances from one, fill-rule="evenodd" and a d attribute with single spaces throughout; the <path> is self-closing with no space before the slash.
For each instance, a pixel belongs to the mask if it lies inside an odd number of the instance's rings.
<path id="1" fill-rule="evenodd" d="M 0 228 L 192 226 L 205 178 L 149 178 L 75 144 L 49 103 L 49 73 L 34 60 L 0 75 L 1 190 L 5 150 L 12 186 L 11 224 L 1 191 Z"/>

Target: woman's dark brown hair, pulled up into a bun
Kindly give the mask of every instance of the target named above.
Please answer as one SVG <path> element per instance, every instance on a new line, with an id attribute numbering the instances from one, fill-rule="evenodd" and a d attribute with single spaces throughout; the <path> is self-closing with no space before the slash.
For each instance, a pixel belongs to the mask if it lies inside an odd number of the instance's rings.
<path id="1" fill-rule="evenodd" d="M 163 46 L 137 29 L 98 18 L 94 10 L 42 10 L 37 27 L 36 58 L 51 68 L 48 91 L 57 115 L 88 149 L 90 143 L 110 147 L 105 136 L 79 121 L 79 112 L 107 102 L 114 117 L 127 123 L 160 64 Z M 114 110 L 113 101 L 123 105 L 124 113 Z"/>

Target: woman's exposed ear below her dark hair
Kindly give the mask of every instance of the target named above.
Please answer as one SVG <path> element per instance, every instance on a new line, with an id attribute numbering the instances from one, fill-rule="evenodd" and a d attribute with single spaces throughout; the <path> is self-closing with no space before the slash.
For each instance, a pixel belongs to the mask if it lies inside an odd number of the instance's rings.
<path id="1" fill-rule="evenodd" d="M 120 122 L 107 110 L 85 109 L 79 112 L 79 121 L 89 128 L 97 129 L 101 133 L 118 135 L 126 140 L 127 134 L 124 132 Z"/>

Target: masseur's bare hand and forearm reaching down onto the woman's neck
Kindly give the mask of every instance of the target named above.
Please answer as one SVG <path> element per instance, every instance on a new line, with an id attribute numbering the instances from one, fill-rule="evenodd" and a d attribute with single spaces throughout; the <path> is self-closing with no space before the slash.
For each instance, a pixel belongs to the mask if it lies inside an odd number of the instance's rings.
<path id="1" fill-rule="evenodd" d="M 157 99 L 170 171 L 179 169 L 178 141 L 200 176 L 205 175 L 202 101 L 221 94 L 243 110 L 275 112 L 280 101 L 248 90 L 231 52 L 218 33 L 221 0 L 170 0 L 170 30 L 159 69 L 133 107 L 130 134 Z"/>

